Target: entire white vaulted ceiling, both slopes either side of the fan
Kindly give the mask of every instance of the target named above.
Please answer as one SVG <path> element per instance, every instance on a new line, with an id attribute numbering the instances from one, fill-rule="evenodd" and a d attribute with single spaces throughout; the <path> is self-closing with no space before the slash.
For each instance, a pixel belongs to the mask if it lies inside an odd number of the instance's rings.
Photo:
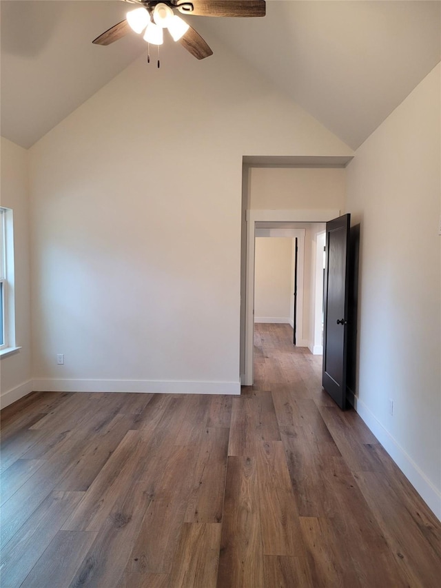
<path id="1" fill-rule="evenodd" d="M 91 43 L 127 7 L 1 0 L 3 136 L 30 147 L 145 51 L 136 34 Z M 187 18 L 216 53 L 227 45 L 357 148 L 440 61 L 440 9 L 438 0 L 269 0 L 263 19 Z"/>

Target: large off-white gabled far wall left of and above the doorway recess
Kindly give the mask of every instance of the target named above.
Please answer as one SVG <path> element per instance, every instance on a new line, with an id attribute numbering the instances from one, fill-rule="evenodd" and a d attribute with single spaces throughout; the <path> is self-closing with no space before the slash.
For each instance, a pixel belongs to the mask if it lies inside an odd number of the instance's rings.
<path id="1" fill-rule="evenodd" d="M 37 388 L 239 392 L 242 156 L 351 150 L 214 50 L 139 59 L 30 150 Z"/>

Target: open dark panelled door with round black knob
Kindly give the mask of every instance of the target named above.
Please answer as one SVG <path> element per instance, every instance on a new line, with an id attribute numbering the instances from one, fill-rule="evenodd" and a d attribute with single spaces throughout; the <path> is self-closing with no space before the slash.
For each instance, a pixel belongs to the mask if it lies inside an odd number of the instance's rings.
<path id="1" fill-rule="evenodd" d="M 323 387 L 346 408 L 349 227 L 351 215 L 326 223 Z"/>

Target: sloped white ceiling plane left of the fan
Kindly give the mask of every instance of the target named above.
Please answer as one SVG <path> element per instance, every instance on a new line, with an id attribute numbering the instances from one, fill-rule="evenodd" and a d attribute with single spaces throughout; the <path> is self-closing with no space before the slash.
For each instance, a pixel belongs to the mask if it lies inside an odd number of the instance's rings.
<path id="1" fill-rule="evenodd" d="M 120 1 L 2 0 L 1 134 L 29 148 L 145 50 L 136 35 L 96 51 Z M 141 42 L 140 42 L 141 41 Z"/>

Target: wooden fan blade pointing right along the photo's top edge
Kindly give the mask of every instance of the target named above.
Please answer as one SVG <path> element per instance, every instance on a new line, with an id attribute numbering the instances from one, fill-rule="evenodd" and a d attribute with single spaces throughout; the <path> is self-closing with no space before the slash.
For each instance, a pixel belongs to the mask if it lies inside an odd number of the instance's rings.
<path id="1" fill-rule="evenodd" d="M 176 4 L 183 14 L 197 17 L 265 17 L 265 0 L 178 0 Z M 193 10 L 188 10 L 191 4 Z"/>

